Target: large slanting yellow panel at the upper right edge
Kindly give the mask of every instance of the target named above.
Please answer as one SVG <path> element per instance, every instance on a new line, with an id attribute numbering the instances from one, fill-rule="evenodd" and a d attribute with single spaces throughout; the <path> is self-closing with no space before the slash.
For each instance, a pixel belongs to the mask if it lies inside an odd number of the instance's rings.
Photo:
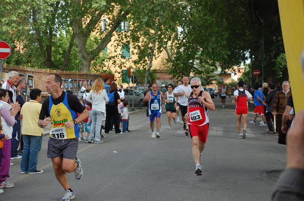
<path id="1" fill-rule="evenodd" d="M 287 68 L 295 112 L 304 109 L 300 57 L 304 49 L 304 1 L 278 0 Z"/>

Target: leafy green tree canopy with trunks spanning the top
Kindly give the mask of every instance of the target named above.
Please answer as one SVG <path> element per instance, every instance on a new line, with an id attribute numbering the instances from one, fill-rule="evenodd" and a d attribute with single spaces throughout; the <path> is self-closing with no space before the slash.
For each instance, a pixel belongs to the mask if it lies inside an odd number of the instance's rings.
<path id="1" fill-rule="evenodd" d="M 232 69 L 249 54 L 252 69 L 263 62 L 265 80 L 288 76 L 276 0 L 6 0 L 0 11 L 1 40 L 14 49 L 9 64 L 100 72 L 110 63 L 147 75 L 165 51 L 168 74 L 210 81 L 215 67 Z M 110 41 L 113 53 L 103 57 Z"/>

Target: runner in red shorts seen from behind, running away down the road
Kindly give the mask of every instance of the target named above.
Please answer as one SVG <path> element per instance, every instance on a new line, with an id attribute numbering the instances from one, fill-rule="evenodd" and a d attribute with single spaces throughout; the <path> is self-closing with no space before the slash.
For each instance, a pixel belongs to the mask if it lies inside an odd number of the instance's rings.
<path id="1" fill-rule="evenodd" d="M 244 82 L 238 82 L 239 88 L 234 91 L 234 100 L 232 104 L 236 103 L 236 114 L 237 114 L 237 127 L 239 131 L 239 138 L 246 138 L 247 129 L 247 115 L 248 115 L 248 101 L 252 100 L 252 95 L 249 91 L 244 89 Z M 241 134 L 241 119 L 243 120 L 243 135 Z"/>

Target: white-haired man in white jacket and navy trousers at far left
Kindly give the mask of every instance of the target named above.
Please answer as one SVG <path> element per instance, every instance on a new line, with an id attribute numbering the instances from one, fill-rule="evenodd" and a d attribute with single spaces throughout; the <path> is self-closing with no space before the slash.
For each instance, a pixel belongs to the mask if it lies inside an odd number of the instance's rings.
<path id="1" fill-rule="evenodd" d="M 17 84 L 19 82 L 19 73 L 16 71 L 9 72 L 8 80 L 3 83 L 2 88 L 7 89 L 9 91 L 9 104 L 16 103 L 17 98 Z M 11 159 L 21 159 L 22 156 L 18 155 L 18 145 L 20 141 L 20 120 L 19 115 L 17 114 L 15 117 L 16 123 L 13 126 L 13 133 L 12 133 L 12 148 L 11 148 Z"/>

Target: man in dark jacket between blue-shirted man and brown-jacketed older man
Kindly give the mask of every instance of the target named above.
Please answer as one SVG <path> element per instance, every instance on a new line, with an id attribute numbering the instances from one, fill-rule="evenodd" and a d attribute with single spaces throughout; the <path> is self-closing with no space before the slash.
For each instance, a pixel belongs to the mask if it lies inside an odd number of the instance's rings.
<path id="1" fill-rule="evenodd" d="M 275 102 L 275 96 L 278 92 L 278 89 L 276 89 L 275 83 L 269 84 L 269 93 L 267 94 L 264 105 L 266 106 L 266 123 L 268 126 L 268 133 L 274 133 L 274 127 L 272 125 L 271 120 L 274 118 L 273 116 L 273 106 Z"/>

